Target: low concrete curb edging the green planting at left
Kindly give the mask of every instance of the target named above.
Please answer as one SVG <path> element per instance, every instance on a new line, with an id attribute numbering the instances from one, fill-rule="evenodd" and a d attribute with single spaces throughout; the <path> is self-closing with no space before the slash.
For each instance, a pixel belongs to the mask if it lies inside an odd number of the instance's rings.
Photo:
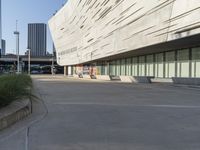
<path id="1" fill-rule="evenodd" d="M 3 130 L 31 114 L 31 101 L 18 100 L 0 109 L 0 130 Z"/>

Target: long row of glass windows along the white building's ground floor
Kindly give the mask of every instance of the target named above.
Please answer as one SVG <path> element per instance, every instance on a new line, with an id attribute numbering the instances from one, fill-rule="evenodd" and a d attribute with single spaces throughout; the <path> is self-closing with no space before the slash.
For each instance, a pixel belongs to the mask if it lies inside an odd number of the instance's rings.
<path id="1" fill-rule="evenodd" d="M 73 74 L 88 73 L 88 65 L 79 68 L 73 67 Z M 93 70 L 97 75 L 200 78 L 200 47 L 100 62 L 93 64 Z"/>

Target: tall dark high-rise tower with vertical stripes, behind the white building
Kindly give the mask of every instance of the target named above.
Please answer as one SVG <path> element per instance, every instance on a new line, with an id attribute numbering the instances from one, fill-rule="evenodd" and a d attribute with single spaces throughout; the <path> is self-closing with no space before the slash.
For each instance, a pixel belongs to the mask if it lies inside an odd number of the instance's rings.
<path id="1" fill-rule="evenodd" d="M 28 24 L 28 48 L 31 56 L 45 56 L 47 45 L 47 26 L 44 23 Z"/>

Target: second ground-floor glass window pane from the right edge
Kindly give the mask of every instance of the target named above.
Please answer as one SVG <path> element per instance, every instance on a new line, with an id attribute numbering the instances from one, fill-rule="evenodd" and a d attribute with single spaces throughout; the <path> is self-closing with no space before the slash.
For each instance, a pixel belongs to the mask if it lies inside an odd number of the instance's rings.
<path id="1" fill-rule="evenodd" d="M 189 77 L 189 50 L 180 50 L 177 53 L 177 77 Z"/>

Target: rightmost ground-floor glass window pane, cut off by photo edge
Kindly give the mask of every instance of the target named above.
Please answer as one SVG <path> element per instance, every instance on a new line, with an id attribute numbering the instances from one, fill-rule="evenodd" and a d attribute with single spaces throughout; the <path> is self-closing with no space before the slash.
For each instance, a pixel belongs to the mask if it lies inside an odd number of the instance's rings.
<path id="1" fill-rule="evenodd" d="M 200 47 L 192 49 L 192 77 L 200 77 Z"/>

